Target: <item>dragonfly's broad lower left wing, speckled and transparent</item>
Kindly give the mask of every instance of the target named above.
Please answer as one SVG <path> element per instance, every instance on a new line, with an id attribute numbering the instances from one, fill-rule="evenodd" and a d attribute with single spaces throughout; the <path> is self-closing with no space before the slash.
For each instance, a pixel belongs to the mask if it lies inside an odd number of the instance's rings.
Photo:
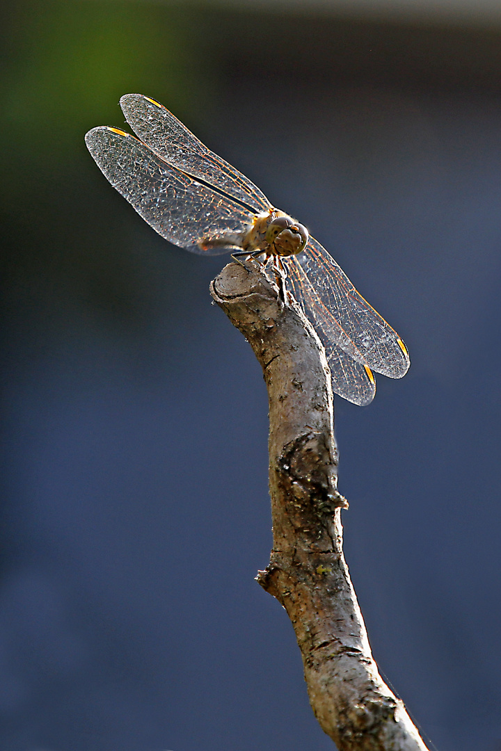
<path id="1" fill-rule="evenodd" d="M 205 255 L 197 243 L 237 234 L 252 221 L 245 207 L 167 164 L 124 131 L 102 125 L 86 134 L 86 144 L 113 188 L 132 204 L 154 230 L 175 245 Z"/>

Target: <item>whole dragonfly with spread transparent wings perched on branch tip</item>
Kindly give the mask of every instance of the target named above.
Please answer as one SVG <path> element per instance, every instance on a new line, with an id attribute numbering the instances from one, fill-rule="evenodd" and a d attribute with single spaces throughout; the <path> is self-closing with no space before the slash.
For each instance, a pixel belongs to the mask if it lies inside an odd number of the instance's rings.
<path id="1" fill-rule="evenodd" d="M 201 255 L 233 251 L 258 257 L 264 267 L 271 259 L 315 327 L 340 397 L 369 404 L 373 372 L 406 374 L 403 340 L 303 225 L 154 99 L 126 94 L 120 107 L 135 136 L 101 125 L 86 134 L 86 145 L 111 185 L 161 237 Z"/>

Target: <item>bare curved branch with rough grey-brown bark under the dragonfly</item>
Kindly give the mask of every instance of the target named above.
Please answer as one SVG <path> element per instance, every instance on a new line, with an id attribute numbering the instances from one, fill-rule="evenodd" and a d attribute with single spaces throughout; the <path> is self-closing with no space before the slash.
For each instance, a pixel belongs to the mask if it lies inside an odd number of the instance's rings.
<path id="1" fill-rule="evenodd" d="M 260 270 L 229 264 L 211 294 L 252 346 L 270 403 L 273 550 L 258 582 L 284 606 L 321 728 L 340 751 L 426 751 L 379 675 L 343 556 L 333 397 L 324 349 Z"/>

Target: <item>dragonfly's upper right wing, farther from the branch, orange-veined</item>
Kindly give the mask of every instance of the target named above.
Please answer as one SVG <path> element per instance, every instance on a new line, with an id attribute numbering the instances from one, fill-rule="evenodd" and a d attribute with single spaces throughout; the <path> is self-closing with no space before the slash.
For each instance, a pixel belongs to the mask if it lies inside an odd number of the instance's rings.
<path id="1" fill-rule="evenodd" d="M 314 322 L 322 322 L 324 336 L 359 363 L 390 378 L 402 378 L 410 365 L 406 345 L 358 293 L 332 256 L 310 237 L 297 263 L 315 289 L 315 302 L 307 300 L 306 306 L 310 306 Z"/>

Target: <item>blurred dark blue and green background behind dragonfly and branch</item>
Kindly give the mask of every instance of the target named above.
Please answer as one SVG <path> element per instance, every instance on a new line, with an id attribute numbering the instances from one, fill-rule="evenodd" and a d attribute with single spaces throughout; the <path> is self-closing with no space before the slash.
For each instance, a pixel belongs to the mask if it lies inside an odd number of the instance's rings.
<path id="1" fill-rule="evenodd" d="M 267 397 L 83 142 L 161 101 L 309 227 L 411 353 L 336 399 L 376 660 L 439 751 L 501 749 L 501 6 L 0 11 L 5 751 L 328 751 L 270 553 Z"/>

